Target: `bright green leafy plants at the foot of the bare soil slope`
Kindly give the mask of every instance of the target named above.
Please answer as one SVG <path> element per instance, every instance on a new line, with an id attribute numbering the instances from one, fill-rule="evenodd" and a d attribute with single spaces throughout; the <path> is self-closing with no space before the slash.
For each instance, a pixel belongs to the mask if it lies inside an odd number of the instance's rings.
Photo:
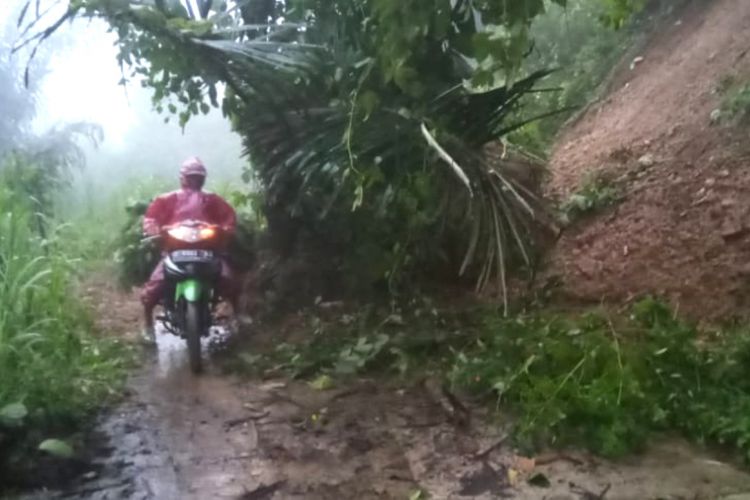
<path id="1" fill-rule="evenodd" d="M 748 332 L 705 333 L 646 298 L 627 318 L 605 313 L 487 318 L 456 352 L 455 387 L 516 416 L 529 448 L 580 445 L 605 456 L 659 431 L 731 444 L 750 458 Z"/>

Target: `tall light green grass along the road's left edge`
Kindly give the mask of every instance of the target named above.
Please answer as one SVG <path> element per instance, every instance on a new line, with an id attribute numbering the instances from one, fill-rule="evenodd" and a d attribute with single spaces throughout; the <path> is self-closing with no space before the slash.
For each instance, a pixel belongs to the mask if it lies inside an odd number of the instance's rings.
<path id="1" fill-rule="evenodd" d="M 0 188 L 0 409 L 21 403 L 28 426 L 59 428 L 115 394 L 123 357 L 92 334 L 76 293 L 79 262 L 56 231 L 43 239 L 33 217 Z"/>

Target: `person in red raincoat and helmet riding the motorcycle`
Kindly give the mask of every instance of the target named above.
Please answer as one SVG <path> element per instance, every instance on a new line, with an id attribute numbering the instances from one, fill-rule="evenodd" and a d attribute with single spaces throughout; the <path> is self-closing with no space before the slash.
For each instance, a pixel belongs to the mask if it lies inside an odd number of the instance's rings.
<path id="1" fill-rule="evenodd" d="M 234 209 L 221 196 L 203 191 L 205 181 L 206 167 L 203 162 L 197 157 L 187 159 L 180 168 L 180 189 L 162 194 L 151 202 L 143 217 L 143 232 L 148 236 L 157 236 L 167 226 L 186 220 L 198 220 L 218 226 L 225 236 L 233 235 L 237 227 L 237 215 Z M 226 242 L 228 238 L 220 240 Z M 222 250 L 222 241 L 217 241 L 217 246 L 219 246 L 217 250 Z M 143 339 L 151 344 L 156 339 L 154 309 L 164 294 L 164 287 L 164 261 L 162 259 L 141 292 L 145 324 Z M 232 311 L 236 315 L 240 283 L 226 259 L 223 258 L 217 290 L 219 295 L 231 304 Z"/>

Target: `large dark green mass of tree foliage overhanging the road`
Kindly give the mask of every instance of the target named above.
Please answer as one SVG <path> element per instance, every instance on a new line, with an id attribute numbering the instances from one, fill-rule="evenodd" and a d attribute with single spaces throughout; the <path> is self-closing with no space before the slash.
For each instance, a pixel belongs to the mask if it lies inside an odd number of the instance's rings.
<path id="1" fill-rule="evenodd" d="M 526 172 L 483 151 L 536 118 L 519 103 L 548 71 L 522 63 L 551 4 L 566 2 L 208 1 L 195 12 L 75 0 L 19 46 L 76 15 L 104 17 L 157 110 L 183 126 L 211 105 L 230 117 L 270 228 L 288 233 L 282 250 L 306 232 L 346 254 L 333 271 L 369 268 L 391 284 L 416 263 L 452 262 L 505 296 L 506 266 L 533 267 L 534 227 L 547 217 Z"/>

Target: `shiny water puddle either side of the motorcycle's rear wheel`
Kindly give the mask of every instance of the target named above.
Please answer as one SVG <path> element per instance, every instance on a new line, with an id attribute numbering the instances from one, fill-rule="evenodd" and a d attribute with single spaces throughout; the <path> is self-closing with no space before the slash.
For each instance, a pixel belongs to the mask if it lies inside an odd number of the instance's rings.
<path id="1" fill-rule="evenodd" d="M 225 326 L 213 326 L 208 337 L 201 339 L 201 354 L 207 360 L 211 352 L 225 345 L 230 332 Z M 156 375 L 161 378 L 189 370 L 185 339 L 170 333 L 164 324 L 156 324 Z"/>

